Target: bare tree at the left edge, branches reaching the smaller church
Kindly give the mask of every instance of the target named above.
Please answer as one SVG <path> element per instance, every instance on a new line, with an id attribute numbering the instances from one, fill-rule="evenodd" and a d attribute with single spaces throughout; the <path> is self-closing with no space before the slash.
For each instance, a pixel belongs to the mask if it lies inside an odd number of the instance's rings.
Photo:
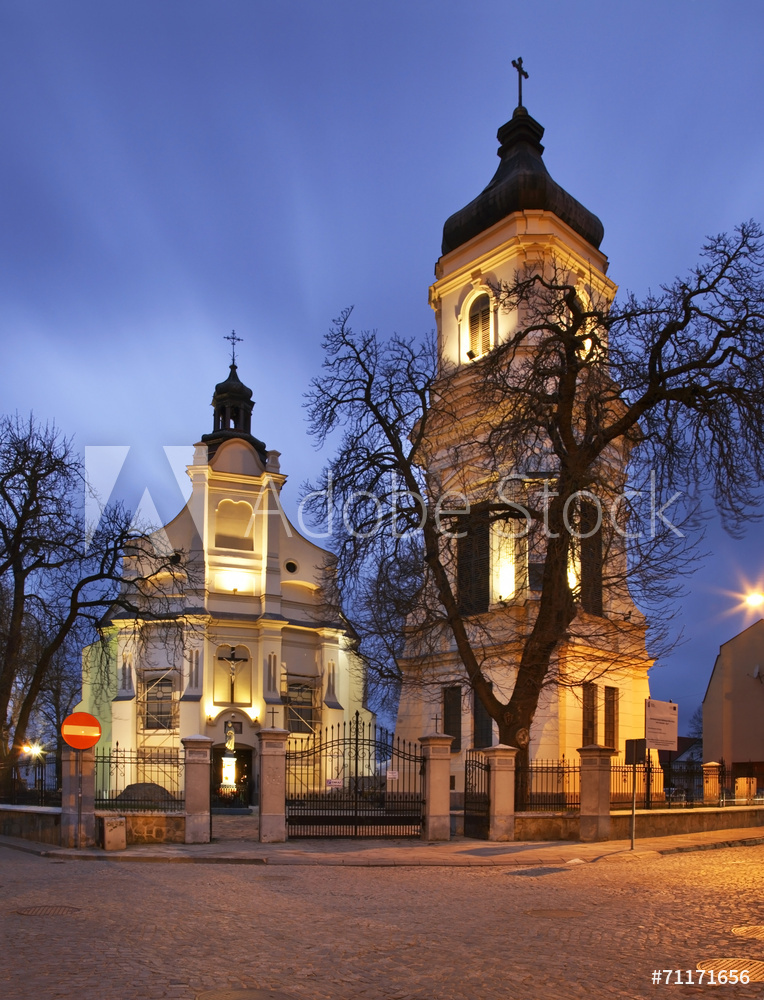
<path id="1" fill-rule="evenodd" d="M 85 489 L 81 460 L 55 427 L 0 419 L 3 758 L 20 752 L 75 633 L 99 634 L 107 613 L 119 609 L 140 620 L 176 610 L 168 581 L 182 571 L 183 554 L 159 550 L 119 506 L 106 507 L 93 530 L 84 520 Z"/>

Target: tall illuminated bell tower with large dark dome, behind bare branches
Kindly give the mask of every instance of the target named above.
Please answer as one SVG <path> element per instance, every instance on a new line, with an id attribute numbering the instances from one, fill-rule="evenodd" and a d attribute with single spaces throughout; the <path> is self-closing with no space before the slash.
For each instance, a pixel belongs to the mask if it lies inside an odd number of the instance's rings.
<path id="1" fill-rule="evenodd" d="M 470 367 L 518 327 L 517 311 L 501 305 L 497 290 L 502 284 L 512 285 L 516 275 L 527 273 L 529 267 L 541 272 L 554 267 L 580 287 L 582 296 L 612 302 L 616 292 L 607 276 L 607 258 L 599 249 L 602 223 L 552 180 L 542 158 L 543 132 L 518 106 L 499 129 L 500 164 L 494 178 L 444 226 L 430 305 L 440 356 L 455 371 L 457 387 L 467 387 L 461 396 L 458 389 L 456 394 L 463 409 L 454 427 L 463 437 L 470 426 L 467 409 L 475 405 L 468 389 Z M 479 445 L 473 451 L 469 444 L 461 449 L 457 445 L 448 439 L 448 432 L 441 435 L 431 451 L 430 469 L 437 467 L 441 483 L 474 502 L 484 485 Z M 621 484 L 625 464 L 622 455 L 616 457 L 614 480 Z M 522 475 L 518 478 L 522 480 Z M 538 485 L 528 477 L 518 488 L 522 495 Z M 455 545 L 452 584 L 457 594 L 466 590 L 465 583 L 471 587 L 474 606 L 466 612 L 476 623 L 473 635 L 480 645 L 483 673 L 506 703 L 523 636 L 530 630 L 540 596 L 543 552 L 534 551 L 527 539 L 502 537 L 495 527 L 486 523 L 480 549 L 470 548 L 469 541 Z M 644 736 L 652 665 L 645 648 L 644 617 L 625 584 L 603 587 L 601 554 L 586 560 L 582 549 L 579 555 L 579 565 L 571 571 L 580 576 L 579 617 L 591 625 L 591 639 L 586 638 L 586 627 L 579 628 L 577 637 L 553 654 L 553 674 L 559 680 L 541 690 L 527 733 L 531 760 L 575 761 L 577 748 L 591 744 L 613 747 L 623 759 L 625 740 Z M 620 560 L 625 579 L 625 552 L 611 553 L 609 558 Z M 415 652 L 407 652 L 400 667 L 397 731 L 411 739 L 437 725 L 453 736 L 452 787 L 458 791 L 463 788 L 465 750 L 495 744 L 498 727 L 471 690 L 455 647 L 430 653 L 426 666 Z"/>

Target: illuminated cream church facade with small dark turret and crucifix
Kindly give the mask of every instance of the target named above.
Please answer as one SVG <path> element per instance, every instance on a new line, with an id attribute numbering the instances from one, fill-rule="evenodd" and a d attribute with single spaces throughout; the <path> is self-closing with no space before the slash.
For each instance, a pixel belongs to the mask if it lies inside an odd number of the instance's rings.
<path id="1" fill-rule="evenodd" d="M 213 429 L 188 467 L 191 497 L 152 536 L 182 554 L 179 579 L 167 581 L 174 613 L 154 622 L 116 613 L 106 662 L 101 645 L 85 650 L 80 707 L 101 720 L 99 749 L 150 759 L 185 736 L 210 737 L 213 782 L 233 751 L 251 799 L 261 727 L 308 738 L 371 713 L 345 631 L 321 619 L 327 553 L 284 513 L 279 452 L 251 433 L 252 392 L 235 362 L 212 405 Z"/>

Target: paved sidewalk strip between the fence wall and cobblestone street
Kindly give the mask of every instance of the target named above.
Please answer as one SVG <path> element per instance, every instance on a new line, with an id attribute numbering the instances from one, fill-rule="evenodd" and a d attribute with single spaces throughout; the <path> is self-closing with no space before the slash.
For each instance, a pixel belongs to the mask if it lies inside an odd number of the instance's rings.
<path id="1" fill-rule="evenodd" d="M 757 835 L 759 834 L 759 835 Z M 217 840 L 211 844 L 141 844 L 125 851 L 51 847 L 0 836 L 0 847 L 43 858 L 71 861 L 154 862 L 175 864 L 346 865 L 364 867 L 537 867 L 595 862 L 635 862 L 685 851 L 717 850 L 764 844 L 760 827 L 716 830 L 676 837 L 596 844 L 577 841 L 489 843 L 465 837 L 443 844 L 420 840 L 291 840 L 285 844 Z"/>

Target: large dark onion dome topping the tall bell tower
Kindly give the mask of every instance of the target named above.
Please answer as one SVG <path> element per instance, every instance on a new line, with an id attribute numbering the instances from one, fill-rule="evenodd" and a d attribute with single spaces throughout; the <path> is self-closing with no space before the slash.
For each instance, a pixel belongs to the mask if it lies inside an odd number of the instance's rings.
<path id="1" fill-rule="evenodd" d="M 541 154 L 544 129 L 522 106 L 497 133 L 501 159 L 491 183 L 477 198 L 455 212 L 443 227 L 442 253 L 526 209 L 552 212 L 595 249 L 605 234 L 600 220 L 549 176 Z"/>

